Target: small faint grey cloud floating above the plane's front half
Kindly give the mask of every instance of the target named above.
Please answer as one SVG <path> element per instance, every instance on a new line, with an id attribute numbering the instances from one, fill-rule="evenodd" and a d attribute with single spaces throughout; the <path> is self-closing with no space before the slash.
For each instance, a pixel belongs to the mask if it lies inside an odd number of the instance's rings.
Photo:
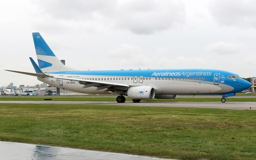
<path id="1" fill-rule="evenodd" d="M 223 55 L 223 54 L 241 53 L 244 49 L 245 49 L 244 44 L 217 42 L 217 43 L 212 43 L 207 45 L 205 47 L 205 52 Z"/>

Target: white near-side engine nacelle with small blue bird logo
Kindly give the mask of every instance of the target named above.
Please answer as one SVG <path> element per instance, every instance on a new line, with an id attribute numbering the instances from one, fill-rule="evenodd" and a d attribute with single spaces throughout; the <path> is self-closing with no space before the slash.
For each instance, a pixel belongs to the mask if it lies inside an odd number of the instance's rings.
<path id="1" fill-rule="evenodd" d="M 135 86 L 130 87 L 127 91 L 130 99 L 153 99 L 155 97 L 155 89 L 151 86 Z"/>

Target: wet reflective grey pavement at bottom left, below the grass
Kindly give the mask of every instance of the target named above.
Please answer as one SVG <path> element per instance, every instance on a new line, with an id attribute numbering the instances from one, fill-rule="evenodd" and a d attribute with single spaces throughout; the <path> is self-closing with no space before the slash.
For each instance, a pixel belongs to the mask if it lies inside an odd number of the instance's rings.
<path id="1" fill-rule="evenodd" d="M 162 158 L 109 153 L 106 151 L 83 150 L 73 148 L 51 147 L 0 141 L 0 159 L 92 159 L 92 160 L 161 160 Z M 166 159 L 165 159 L 166 160 Z M 172 159 L 174 160 L 174 159 Z"/>

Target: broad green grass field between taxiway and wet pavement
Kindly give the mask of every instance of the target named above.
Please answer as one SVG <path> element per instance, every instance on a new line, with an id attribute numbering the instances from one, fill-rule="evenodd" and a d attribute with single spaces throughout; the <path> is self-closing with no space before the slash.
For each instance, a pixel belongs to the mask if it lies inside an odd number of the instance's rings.
<path id="1" fill-rule="evenodd" d="M 175 159 L 256 159 L 256 111 L 7 104 L 0 140 Z"/>

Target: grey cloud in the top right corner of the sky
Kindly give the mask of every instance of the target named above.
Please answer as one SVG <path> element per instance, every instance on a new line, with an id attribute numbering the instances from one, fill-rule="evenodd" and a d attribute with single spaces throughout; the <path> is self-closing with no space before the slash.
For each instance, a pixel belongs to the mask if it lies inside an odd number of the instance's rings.
<path id="1" fill-rule="evenodd" d="M 256 27 L 256 1 L 215 0 L 210 11 L 219 25 Z"/>

